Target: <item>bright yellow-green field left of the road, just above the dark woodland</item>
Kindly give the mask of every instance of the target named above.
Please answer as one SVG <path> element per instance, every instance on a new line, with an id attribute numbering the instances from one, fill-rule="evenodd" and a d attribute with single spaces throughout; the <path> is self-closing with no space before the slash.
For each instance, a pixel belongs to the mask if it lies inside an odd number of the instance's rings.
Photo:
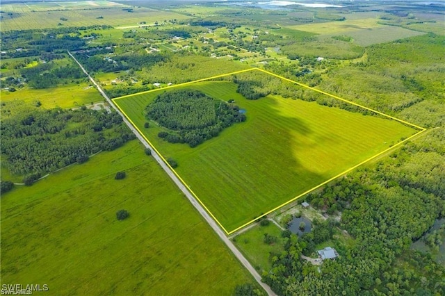
<path id="1" fill-rule="evenodd" d="M 41 90 L 32 88 L 19 89 L 15 92 L 1 90 L 0 94 L 1 101 L 21 100 L 26 103 L 40 101 L 44 108 L 74 108 L 104 100 L 96 88 L 88 85 L 88 83 L 69 83 L 56 88 Z"/>

